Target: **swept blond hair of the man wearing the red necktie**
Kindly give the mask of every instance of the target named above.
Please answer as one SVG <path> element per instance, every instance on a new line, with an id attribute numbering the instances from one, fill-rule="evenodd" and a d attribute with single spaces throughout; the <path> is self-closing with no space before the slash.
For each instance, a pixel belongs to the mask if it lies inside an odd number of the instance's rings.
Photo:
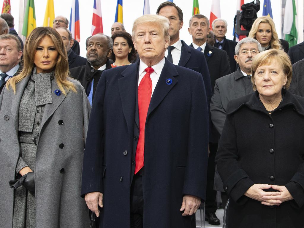
<path id="1" fill-rule="evenodd" d="M 133 28 L 132 28 L 133 42 L 135 42 L 135 32 L 136 32 L 137 26 L 140 24 L 151 24 L 151 23 L 158 24 L 160 26 L 160 28 L 164 31 L 165 40 L 170 41 L 169 20 L 166 17 L 160 16 L 158 14 L 145 14 L 145 15 L 137 18 L 133 23 Z"/>

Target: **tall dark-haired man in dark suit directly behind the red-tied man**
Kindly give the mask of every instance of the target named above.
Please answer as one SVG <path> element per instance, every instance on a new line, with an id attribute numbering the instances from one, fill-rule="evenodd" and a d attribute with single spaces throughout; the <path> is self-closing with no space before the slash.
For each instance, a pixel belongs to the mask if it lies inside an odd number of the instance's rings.
<path id="1" fill-rule="evenodd" d="M 165 56 L 175 65 L 187 67 L 202 74 L 209 107 L 212 97 L 212 89 L 205 56 L 199 51 L 189 47 L 179 38 L 179 30 L 184 24 L 183 12 L 173 2 L 163 2 L 158 6 L 156 14 L 167 17 L 170 22 L 170 45 L 165 52 Z"/>

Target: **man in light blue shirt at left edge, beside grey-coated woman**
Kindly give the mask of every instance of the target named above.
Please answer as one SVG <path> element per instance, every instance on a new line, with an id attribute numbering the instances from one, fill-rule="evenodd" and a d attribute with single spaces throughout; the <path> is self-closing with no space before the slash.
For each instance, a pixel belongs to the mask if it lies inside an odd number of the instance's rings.
<path id="1" fill-rule="evenodd" d="M 10 34 L 0 36 L 0 92 L 6 81 L 20 72 L 21 43 Z"/>

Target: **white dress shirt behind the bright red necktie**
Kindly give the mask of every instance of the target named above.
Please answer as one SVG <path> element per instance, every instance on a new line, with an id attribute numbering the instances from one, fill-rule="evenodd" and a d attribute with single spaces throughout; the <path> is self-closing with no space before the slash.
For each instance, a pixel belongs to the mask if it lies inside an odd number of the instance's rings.
<path id="1" fill-rule="evenodd" d="M 150 78 L 152 80 L 152 94 L 154 92 L 154 89 L 156 87 L 156 84 L 158 82 L 159 77 L 161 76 L 161 71 L 163 70 L 163 67 L 165 65 L 165 58 L 163 58 L 161 61 L 159 61 L 156 65 L 152 66 L 154 72 L 150 74 Z M 139 76 L 138 76 L 138 85 L 140 84 L 141 79 L 143 79 L 143 76 L 147 73 L 145 69 L 148 66 L 142 61 L 139 61 Z M 164 81 L 165 83 L 165 81 Z"/>

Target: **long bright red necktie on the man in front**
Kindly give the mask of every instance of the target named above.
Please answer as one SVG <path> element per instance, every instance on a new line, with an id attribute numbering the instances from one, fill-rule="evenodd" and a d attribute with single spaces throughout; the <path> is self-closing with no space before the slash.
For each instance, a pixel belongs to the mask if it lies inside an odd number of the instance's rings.
<path id="1" fill-rule="evenodd" d="M 143 167 L 145 124 L 152 94 L 152 80 L 150 78 L 150 74 L 154 72 L 154 70 L 152 67 L 147 67 L 145 71 L 147 73 L 143 76 L 138 86 L 139 137 L 135 154 L 134 174 L 136 174 Z"/>

